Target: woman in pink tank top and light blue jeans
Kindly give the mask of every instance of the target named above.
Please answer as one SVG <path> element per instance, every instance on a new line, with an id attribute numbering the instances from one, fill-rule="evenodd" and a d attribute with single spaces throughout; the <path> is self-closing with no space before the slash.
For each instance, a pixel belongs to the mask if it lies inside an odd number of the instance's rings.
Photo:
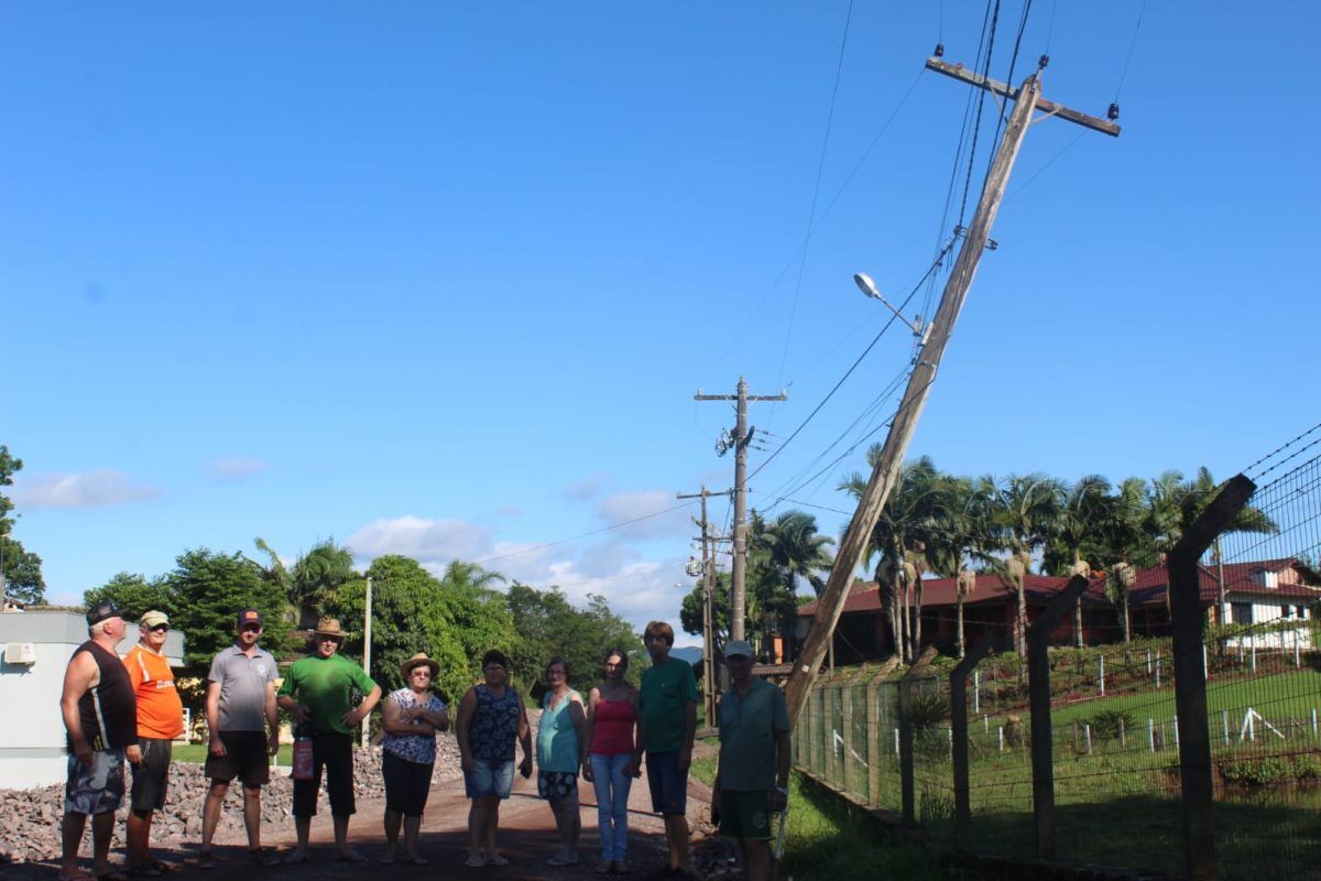
<path id="1" fill-rule="evenodd" d="M 629 655 L 621 649 L 605 652 L 605 682 L 592 689 L 587 709 L 588 753 L 583 777 L 596 787 L 597 826 L 601 831 L 601 861 L 596 870 L 627 872 L 629 789 L 639 777 L 637 750 L 638 689 L 625 682 Z"/>

